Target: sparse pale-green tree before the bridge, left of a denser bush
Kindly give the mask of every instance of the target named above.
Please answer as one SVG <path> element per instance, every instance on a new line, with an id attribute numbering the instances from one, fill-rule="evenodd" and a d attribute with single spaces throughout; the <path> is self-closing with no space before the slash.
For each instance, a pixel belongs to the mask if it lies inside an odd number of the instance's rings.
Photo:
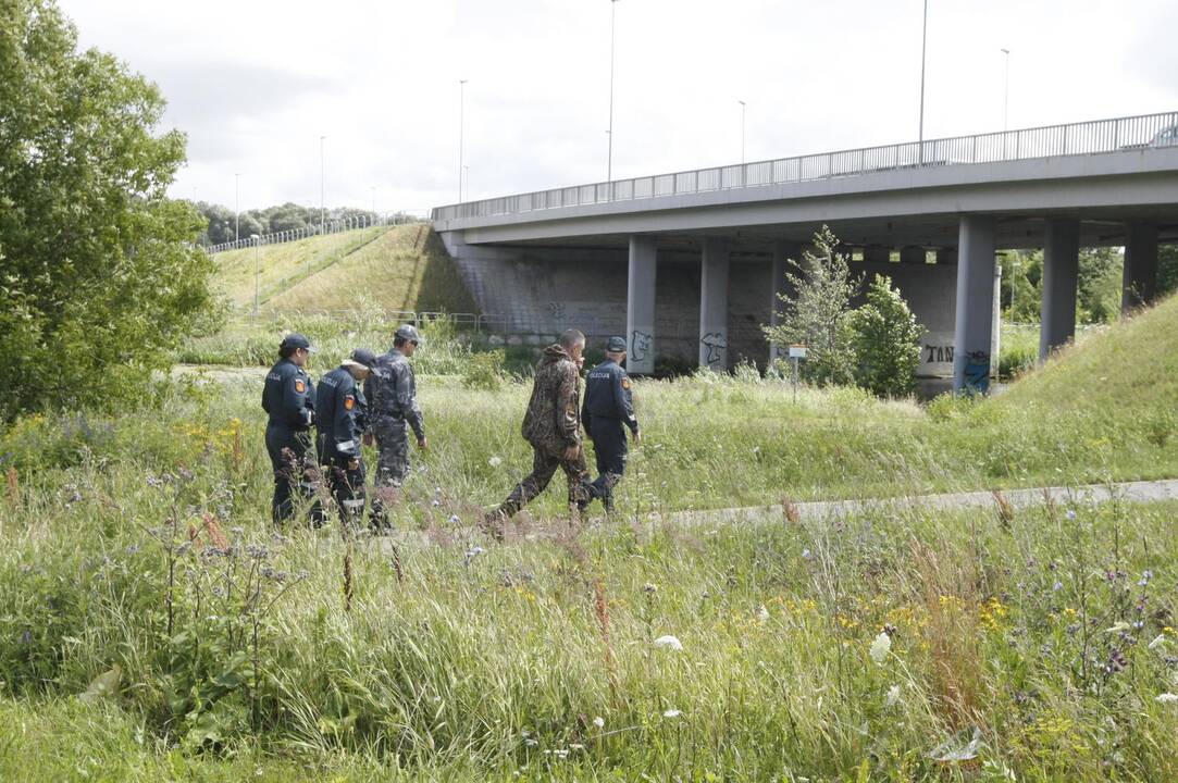
<path id="1" fill-rule="evenodd" d="M 794 293 L 779 294 L 785 310 L 776 326 L 762 326 L 773 343 L 807 346 L 803 374 L 820 384 L 853 380 L 851 350 L 851 300 L 862 285 L 852 277 L 847 257 L 835 252 L 839 239 L 829 227 L 814 234 L 814 250 L 802 253 L 802 263 L 789 259 L 786 285 Z"/>

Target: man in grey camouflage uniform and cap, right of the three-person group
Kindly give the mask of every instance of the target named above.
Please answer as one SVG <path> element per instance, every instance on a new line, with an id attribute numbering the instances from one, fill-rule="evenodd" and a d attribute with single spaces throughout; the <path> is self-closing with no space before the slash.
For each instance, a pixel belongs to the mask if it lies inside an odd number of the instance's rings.
<path id="1" fill-rule="evenodd" d="M 409 476 L 409 430 L 417 437 L 418 449 L 429 445 L 422 409 L 417 405 L 413 366 L 409 363 L 421 343 L 421 334 L 409 324 L 397 327 L 392 350 L 377 357 L 372 374 L 364 383 L 371 411 L 364 443 L 371 443 L 375 436 L 377 445 L 372 497 L 372 526 L 377 529 L 389 526 L 386 506 Z"/>

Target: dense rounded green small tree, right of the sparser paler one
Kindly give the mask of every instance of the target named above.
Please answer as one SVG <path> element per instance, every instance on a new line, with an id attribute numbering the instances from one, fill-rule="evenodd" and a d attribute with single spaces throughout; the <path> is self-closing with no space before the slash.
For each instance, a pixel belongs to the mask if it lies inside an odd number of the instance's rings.
<path id="1" fill-rule="evenodd" d="M 892 279 L 876 274 L 867 303 L 851 316 L 855 381 L 876 394 L 902 397 L 916 389 L 920 339 L 925 327 Z"/>

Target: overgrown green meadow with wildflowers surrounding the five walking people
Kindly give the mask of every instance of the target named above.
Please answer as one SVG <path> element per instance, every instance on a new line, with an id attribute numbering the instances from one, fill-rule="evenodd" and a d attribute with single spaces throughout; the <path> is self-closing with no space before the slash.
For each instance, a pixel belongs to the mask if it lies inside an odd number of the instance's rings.
<path id="1" fill-rule="evenodd" d="M 471 523 L 528 470 L 528 386 L 438 374 L 469 358 L 444 332 L 393 538 L 276 535 L 256 366 L 28 417 L 0 434 L 0 779 L 1174 779 L 1178 505 L 651 512 L 1178 476 L 1176 321 L 980 400 L 638 381 L 620 518 L 571 529 L 558 478 L 504 544 Z"/>

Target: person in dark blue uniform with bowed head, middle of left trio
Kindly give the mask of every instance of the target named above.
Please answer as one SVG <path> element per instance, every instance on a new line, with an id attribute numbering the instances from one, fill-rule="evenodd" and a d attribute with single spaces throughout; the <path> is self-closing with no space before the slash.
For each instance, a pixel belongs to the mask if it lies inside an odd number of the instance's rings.
<path id="1" fill-rule="evenodd" d="M 376 353 L 356 349 L 338 367 L 319 379 L 316 392 L 319 465 L 345 524 L 355 524 L 364 516 L 360 440 L 368 426 L 368 400 L 358 381 L 366 380 L 375 365 Z"/>

